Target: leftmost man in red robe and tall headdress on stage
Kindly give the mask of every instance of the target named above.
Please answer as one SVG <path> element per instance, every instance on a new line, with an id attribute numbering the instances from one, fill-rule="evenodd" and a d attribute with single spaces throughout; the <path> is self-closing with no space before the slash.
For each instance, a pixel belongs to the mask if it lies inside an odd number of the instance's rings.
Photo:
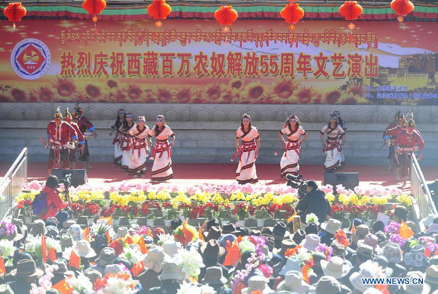
<path id="1" fill-rule="evenodd" d="M 62 121 L 59 107 L 54 115 L 54 120 L 47 125 L 47 146 L 50 148 L 47 168 L 49 175 L 52 169 L 69 169 L 69 141 L 77 140 L 76 131 L 67 122 Z"/>

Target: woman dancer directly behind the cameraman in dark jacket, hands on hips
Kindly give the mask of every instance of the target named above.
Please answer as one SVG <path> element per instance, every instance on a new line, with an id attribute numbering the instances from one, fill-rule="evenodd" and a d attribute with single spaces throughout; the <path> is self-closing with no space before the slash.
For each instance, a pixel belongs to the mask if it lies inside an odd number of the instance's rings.
<path id="1" fill-rule="evenodd" d="M 283 135 L 287 134 L 288 141 L 284 140 Z M 284 129 L 278 134 L 281 141 L 283 141 L 283 147 L 285 149 L 283 157 L 280 161 L 281 178 L 286 177 L 287 174 L 297 175 L 300 166 L 298 161 L 300 159 L 301 143 L 306 140 L 306 132 L 301 128 L 298 117 L 295 115 L 289 116 L 284 125 Z M 300 140 L 300 137 L 302 139 Z M 288 152 L 289 151 L 289 152 Z"/>

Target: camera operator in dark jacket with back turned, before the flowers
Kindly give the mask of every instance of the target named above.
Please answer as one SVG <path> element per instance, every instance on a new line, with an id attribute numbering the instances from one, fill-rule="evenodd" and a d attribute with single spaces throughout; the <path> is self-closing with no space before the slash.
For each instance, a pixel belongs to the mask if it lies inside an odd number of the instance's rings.
<path id="1" fill-rule="evenodd" d="M 306 222 L 306 215 L 309 213 L 315 213 L 319 223 L 325 222 L 327 215 L 331 213 L 326 195 L 318 189 L 318 184 L 314 180 L 307 181 L 307 194 L 298 202 L 296 209 L 301 212 L 299 214 L 303 223 Z"/>

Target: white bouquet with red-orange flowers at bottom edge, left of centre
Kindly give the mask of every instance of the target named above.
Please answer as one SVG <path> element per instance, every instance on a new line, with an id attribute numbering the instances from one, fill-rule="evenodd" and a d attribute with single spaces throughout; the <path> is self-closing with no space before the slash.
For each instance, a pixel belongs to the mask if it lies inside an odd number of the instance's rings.
<path id="1" fill-rule="evenodd" d="M 107 274 L 103 278 L 97 278 L 94 283 L 94 291 L 98 294 L 134 294 L 134 281 L 128 272 L 119 272 L 117 274 Z"/>

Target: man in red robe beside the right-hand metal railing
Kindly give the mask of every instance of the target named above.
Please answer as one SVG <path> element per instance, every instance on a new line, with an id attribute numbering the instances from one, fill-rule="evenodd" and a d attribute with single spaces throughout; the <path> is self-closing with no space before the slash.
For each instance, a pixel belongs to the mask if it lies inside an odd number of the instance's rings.
<path id="1" fill-rule="evenodd" d="M 403 121 L 403 123 L 405 122 L 406 121 Z M 411 119 L 406 130 L 400 131 L 394 141 L 394 151 L 396 153 L 396 159 L 400 164 L 403 187 L 406 185 L 406 176 L 409 174 L 409 160 L 412 153 L 423 149 L 424 141 L 420 133 L 415 130 L 415 121 Z M 423 153 L 421 152 L 418 159 L 421 160 L 422 157 Z"/>

